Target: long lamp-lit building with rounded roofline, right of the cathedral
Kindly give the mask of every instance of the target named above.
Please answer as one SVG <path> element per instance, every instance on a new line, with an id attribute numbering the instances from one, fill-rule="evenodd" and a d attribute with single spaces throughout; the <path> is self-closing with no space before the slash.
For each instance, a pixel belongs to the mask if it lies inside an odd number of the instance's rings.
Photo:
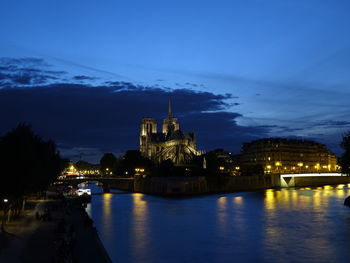
<path id="1" fill-rule="evenodd" d="M 269 138 L 243 144 L 242 167 L 261 165 L 265 173 L 325 173 L 338 170 L 325 145 L 306 140 Z"/>

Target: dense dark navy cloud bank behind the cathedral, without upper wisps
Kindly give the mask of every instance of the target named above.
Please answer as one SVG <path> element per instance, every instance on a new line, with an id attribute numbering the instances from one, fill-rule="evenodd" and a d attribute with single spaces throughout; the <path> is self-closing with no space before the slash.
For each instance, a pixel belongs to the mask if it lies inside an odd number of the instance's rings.
<path id="1" fill-rule="evenodd" d="M 225 112 L 229 94 L 195 92 L 171 93 L 160 88 L 52 84 L 0 90 L 3 134 L 19 122 L 30 123 L 40 134 L 59 143 L 63 153 L 76 157 L 77 150 L 89 149 L 85 157 L 102 152 L 138 148 L 142 117 L 158 120 L 166 116 L 168 98 L 184 131 L 194 131 L 199 148 L 239 149 L 241 142 L 266 134 L 260 127 L 241 127 L 238 113 Z M 94 150 L 91 150 L 94 149 Z M 74 154 L 73 154 L 74 152 Z M 92 158 L 92 157 L 91 157 Z"/>

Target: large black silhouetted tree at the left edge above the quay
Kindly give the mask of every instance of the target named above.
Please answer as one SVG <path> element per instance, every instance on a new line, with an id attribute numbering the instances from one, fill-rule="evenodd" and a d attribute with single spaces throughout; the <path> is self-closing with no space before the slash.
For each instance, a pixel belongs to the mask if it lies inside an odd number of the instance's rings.
<path id="1" fill-rule="evenodd" d="M 61 171 L 53 141 L 44 141 L 31 127 L 20 124 L 0 138 L 0 200 L 15 214 L 25 195 L 45 190 Z"/>

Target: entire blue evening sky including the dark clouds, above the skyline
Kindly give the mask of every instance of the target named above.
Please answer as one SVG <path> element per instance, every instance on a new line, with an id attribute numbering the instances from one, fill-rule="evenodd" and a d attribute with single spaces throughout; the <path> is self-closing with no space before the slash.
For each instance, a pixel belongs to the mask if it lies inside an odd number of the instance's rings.
<path id="1" fill-rule="evenodd" d="M 348 0 L 0 2 L 0 135 L 31 124 L 65 157 L 139 147 L 166 117 L 198 149 L 264 137 L 336 154 L 350 130 Z M 160 125 L 159 125 L 160 126 Z"/>

